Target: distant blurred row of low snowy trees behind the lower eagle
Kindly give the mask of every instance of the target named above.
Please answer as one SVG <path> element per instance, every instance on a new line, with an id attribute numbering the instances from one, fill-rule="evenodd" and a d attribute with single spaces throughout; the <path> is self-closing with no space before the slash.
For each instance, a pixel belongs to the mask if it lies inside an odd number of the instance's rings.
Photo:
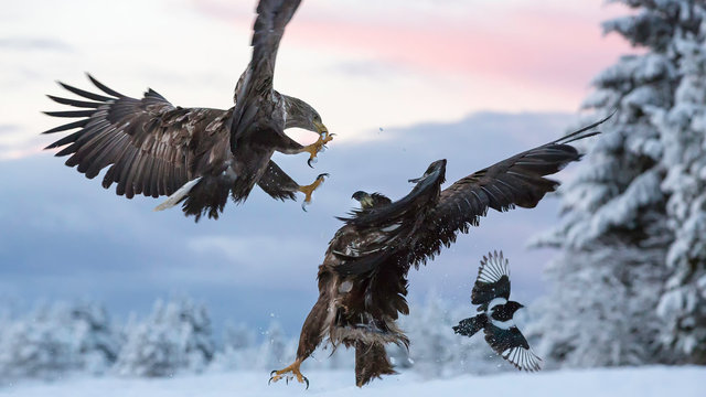
<path id="1" fill-rule="evenodd" d="M 391 346 L 398 369 L 428 377 L 512 369 L 482 337 L 453 334 L 451 325 L 469 310 L 451 311 L 434 297 L 413 307 L 403 320 L 411 337 L 409 351 Z M 293 361 L 298 342 L 276 320 L 265 332 L 226 323 L 220 335 L 214 335 L 205 305 L 188 298 L 158 301 L 151 314 L 131 315 L 124 324 L 96 302 L 53 303 L 23 315 L 6 311 L 0 314 L 0 382 L 69 375 L 173 377 L 204 371 L 261 371 L 266 378 Z M 317 352 L 303 369 L 353 368 L 352 351 L 331 353 L 330 346 Z"/>

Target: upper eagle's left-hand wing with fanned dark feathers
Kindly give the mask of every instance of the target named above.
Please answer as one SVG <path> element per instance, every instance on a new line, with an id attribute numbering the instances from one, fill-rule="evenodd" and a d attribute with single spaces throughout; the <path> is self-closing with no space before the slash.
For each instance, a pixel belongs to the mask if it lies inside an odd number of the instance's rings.
<path id="1" fill-rule="evenodd" d="M 157 197 L 174 193 L 205 172 L 217 171 L 226 161 L 228 110 L 174 107 L 152 89 L 135 99 L 88 78 L 105 95 L 61 84 L 88 100 L 50 96 L 82 110 L 47 111 L 78 120 L 44 132 L 77 129 L 46 149 L 66 146 L 56 155 L 71 155 L 66 165 L 77 165 L 86 178 L 93 179 L 110 165 L 104 187 L 115 182 L 116 193 L 128 198 L 135 194 Z"/>

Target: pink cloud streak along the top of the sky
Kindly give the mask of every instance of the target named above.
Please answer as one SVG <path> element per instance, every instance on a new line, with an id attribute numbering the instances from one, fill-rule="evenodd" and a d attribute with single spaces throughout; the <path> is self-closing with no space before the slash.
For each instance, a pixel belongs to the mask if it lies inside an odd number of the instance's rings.
<path id="1" fill-rule="evenodd" d="M 252 10 L 214 0 L 199 1 L 197 7 L 238 24 L 254 15 Z M 383 13 L 371 15 L 357 9 L 345 11 L 331 4 L 303 4 L 297 23 L 288 26 L 287 41 L 330 53 L 359 53 L 427 73 L 581 92 L 596 73 L 630 51 L 621 39 L 603 37 L 600 28 L 601 20 L 624 10 L 598 9 L 593 1 L 554 8 L 478 6 L 475 13 L 463 15 L 421 15 L 402 8 L 377 9 Z"/>

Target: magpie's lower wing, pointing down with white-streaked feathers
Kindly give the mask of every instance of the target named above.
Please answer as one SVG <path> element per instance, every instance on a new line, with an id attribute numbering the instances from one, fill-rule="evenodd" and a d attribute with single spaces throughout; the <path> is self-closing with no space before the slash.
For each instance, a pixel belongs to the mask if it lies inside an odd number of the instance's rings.
<path id="1" fill-rule="evenodd" d="M 495 353 L 507 360 L 517 369 L 527 372 L 541 369 L 542 358 L 530 348 L 527 340 L 516 326 L 513 325 L 504 330 L 489 323 L 485 326 L 485 341 Z"/>

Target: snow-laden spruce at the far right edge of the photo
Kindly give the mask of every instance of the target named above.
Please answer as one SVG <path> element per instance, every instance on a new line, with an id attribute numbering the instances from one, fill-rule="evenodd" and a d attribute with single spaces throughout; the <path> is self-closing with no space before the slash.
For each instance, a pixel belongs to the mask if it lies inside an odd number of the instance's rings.
<path id="1" fill-rule="evenodd" d="M 664 144 L 668 226 L 674 233 L 666 265 L 671 277 L 657 313 L 662 342 L 686 361 L 706 364 L 706 4 L 691 10 L 693 36 L 676 40 L 682 76 L 674 106 L 654 120 Z"/>

